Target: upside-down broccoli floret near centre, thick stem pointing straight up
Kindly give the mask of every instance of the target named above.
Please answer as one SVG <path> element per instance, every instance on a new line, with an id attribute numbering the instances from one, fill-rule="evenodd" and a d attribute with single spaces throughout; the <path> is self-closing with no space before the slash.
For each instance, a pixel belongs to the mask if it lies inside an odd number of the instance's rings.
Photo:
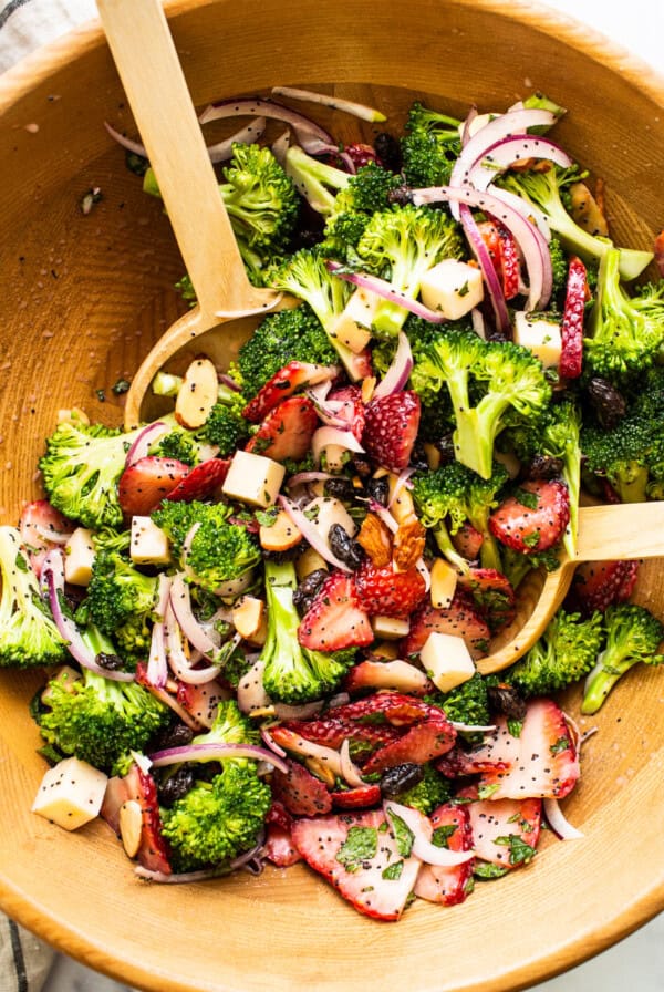
<path id="1" fill-rule="evenodd" d="M 293 604 L 297 588 L 291 561 L 266 561 L 268 636 L 260 654 L 264 662 L 263 685 L 270 699 L 294 704 L 320 700 L 332 692 L 355 657 L 354 651 L 326 654 L 300 644 L 300 618 Z"/>

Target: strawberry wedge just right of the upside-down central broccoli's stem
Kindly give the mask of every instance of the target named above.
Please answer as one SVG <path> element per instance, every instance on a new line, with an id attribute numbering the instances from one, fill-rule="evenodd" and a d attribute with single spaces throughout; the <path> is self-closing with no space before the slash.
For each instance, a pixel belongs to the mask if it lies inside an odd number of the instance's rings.
<path id="1" fill-rule="evenodd" d="M 353 576 L 333 571 L 323 581 L 298 628 L 298 640 L 312 651 L 364 647 L 374 639 L 369 617 L 357 601 Z"/>

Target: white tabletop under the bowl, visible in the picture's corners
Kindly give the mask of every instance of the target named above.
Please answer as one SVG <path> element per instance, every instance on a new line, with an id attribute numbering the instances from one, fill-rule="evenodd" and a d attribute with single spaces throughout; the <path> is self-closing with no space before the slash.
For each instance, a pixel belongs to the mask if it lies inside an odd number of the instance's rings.
<path id="1" fill-rule="evenodd" d="M 664 73 L 662 0 L 549 0 L 547 4 L 584 21 Z M 664 914 L 604 953 L 531 992 L 664 992 Z M 59 957 L 43 992 L 126 992 L 68 958 Z"/>

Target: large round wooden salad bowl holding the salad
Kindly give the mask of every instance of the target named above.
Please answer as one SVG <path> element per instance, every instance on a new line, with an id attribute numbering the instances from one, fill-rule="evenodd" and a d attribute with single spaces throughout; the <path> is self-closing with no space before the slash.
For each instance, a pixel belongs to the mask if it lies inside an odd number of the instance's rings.
<path id="1" fill-rule="evenodd" d="M 139 2 L 139 0 L 137 0 Z M 415 97 L 459 117 L 541 90 L 568 107 L 557 138 L 606 183 L 618 241 L 664 223 L 664 80 L 589 29 L 525 0 L 178 0 L 167 4 L 194 101 L 276 84 L 381 107 L 401 128 Z M 302 108 L 302 107 L 300 107 Z M 315 108 L 340 140 L 372 125 Z M 162 205 L 125 168 L 107 120 L 135 136 L 98 23 L 0 79 L 0 523 L 41 494 L 60 407 L 120 424 L 131 379 L 184 312 L 183 262 Z M 373 125 L 375 127 L 375 125 Z M 102 200 L 80 208 L 87 190 Z M 196 351 L 228 361 L 238 335 Z M 190 355 L 180 355 L 183 362 Z M 637 599 L 664 613 L 658 561 Z M 461 906 L 417 902 L 370 921 L 302 865 L 193 886 L 146 885 L 108 827 L 74 834 L 30 813 L 45 771 L 28 703 L 41 673 L 0 672 L 0 906 L 58 949 L 155 992 L 498 992 L 604 950 L 664 908 L 662 674 L 630 673 L 596 717 L 564 813 L 535 862 Z M 579 696 L 564 700 L 578 716 Z"/>

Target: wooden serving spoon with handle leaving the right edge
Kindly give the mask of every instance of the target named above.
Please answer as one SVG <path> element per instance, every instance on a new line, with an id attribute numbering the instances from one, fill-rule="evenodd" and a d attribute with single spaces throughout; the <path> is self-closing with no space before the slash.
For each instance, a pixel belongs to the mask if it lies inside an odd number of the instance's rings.
<path id="1" fill-rule="evenodd" d="M 664 556 L 664 502 L 618 506 L 582 506 L 573 558 L 543 577 L 533 572 L 519 587 L 517 616 L 491 644 L 491 653 L 477 662 L 483 674 L 513 664 L 544 632 L 570 588 L 582 561 L 613 561 Z"/>

